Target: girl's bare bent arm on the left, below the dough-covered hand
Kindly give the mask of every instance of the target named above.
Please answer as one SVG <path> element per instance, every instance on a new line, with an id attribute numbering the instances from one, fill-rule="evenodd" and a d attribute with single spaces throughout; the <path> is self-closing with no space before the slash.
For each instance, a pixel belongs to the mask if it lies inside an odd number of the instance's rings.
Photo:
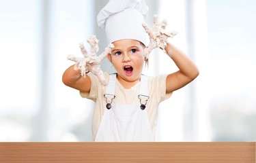
<path id="1" fill-rule="evenodd" d="M 62 75 L 62 82 L 66 86 L 70 86 L 82 92 L 89 92 L 91 89 L 91 79 L 88 75 L 81 76 L 80 70 L 75 70 L 74 65 L 66 69 Z"/>

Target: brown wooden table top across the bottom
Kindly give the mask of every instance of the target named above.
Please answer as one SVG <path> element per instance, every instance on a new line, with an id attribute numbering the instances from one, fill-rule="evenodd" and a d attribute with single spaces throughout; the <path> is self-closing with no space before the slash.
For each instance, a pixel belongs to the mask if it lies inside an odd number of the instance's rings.
<path id="1" fill-rule="evenodd" d="M 246 143 L 0 143 L 0 162 L 255 163 Z"/>

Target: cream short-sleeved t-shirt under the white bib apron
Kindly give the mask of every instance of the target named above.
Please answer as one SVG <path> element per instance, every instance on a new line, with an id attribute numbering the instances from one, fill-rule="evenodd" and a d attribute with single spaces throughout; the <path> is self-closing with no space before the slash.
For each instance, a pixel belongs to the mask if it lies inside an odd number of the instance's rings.
<path id="1" fill-rule="evenodd" d="M 107 86 L 102 86 L 98 81 L 98 78 L 92 73 L 88 73 L 91 79 L 91 90 L 89 93 L 80 92 L 81 96 L 84 98 L 91 99 L 95 102 L 94 117 L 92 122 L 92 134 L 95 140 L 100 122 L 102 120 L 104 109 L 106 109 L 106 99 L 104 94 L 106 92 Z M 109 80 L 109 74 L 104 73 L 106 79 Z M 156 134 L 156 122 L 158 117 L 158 105 L 160 102 L 169 98 L 172 93 L 166 94 L 166 78 L 167 75 L 158 75 L 156 77 L 149 77 L 148 88 L 149 88 L 149 99 L 147 101 L 146 109 L 147 115 L 150 121 L 150 126 L 152 132 Z M 130 89 L 125 89 L 122 84 L 116 81 L 115 86 L 115 99 L 113 103 L 122 105 L 131 105 L 139 103 L 139 90 L 141 82 L 137 83 Z"/>

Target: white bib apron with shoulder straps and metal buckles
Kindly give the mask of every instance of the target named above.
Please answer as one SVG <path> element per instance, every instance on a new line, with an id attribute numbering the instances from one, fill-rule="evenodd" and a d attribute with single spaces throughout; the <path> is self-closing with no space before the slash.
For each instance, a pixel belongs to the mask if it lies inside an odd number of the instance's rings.
<path id="1" fill-rule="evenodd" d="M 141 88 L 137 105 L 116 105 L 115 98 L 116 74 L 109 76 L 106 89 L 106 108 L 96 134 L 95 141 L 154 141 L 150 121 L 147 117 L 146 103 L 148 100 L 147 77 L 141 75 Z M 111 107 L 110 107 L 111 105 Z M 143 107 L 144 105 L 144 107 Z M 107 107 L 110 107 L 107 109 Z"/>

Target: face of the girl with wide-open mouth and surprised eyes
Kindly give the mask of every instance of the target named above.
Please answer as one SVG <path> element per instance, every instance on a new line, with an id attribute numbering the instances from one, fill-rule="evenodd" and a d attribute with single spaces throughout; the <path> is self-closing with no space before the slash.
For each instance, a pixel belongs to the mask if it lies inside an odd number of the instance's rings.
<path id="1" fill-rule="evenodd" d="M 117 71 L 117 79 L 123 86 L 134 86 L 141 79 L 145 57 L 143 44 L 134 39 L 122 39 L 113 42 L 109 61 Z"/>

